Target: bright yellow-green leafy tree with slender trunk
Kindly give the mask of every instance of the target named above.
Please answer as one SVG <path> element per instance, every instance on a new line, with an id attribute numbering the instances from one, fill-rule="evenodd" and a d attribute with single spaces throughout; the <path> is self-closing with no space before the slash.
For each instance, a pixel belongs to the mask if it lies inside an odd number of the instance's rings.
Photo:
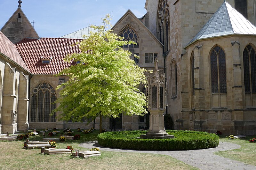
<path id="1" fill-rule="evenodd" d="M 53 111 L 60 111 L 60 120 L 79 122 L 84 117 L 102 116 L 116 118 L 120 113 L 141 115 L 147 113 L 146 97 L 139 92 L 139 85 L 146 84 L 144 72 L 129 57 L 131 52 L 123 50 L 124 44 L 135 44 L 122 41 L 112 30 L 110 16 L 102 19 L 102 26 L 92 26 L 99 30 L 91 33 L 85 40 L 77 43 L 81 53 L 65 57 L 66 62 L 81 63 L 62 70 L 59 75 L 69 76 L 69 80 L 57 87 L 60 90 L 59 106 Z M 138 56 L 136 56 L 138 57 Z"/>

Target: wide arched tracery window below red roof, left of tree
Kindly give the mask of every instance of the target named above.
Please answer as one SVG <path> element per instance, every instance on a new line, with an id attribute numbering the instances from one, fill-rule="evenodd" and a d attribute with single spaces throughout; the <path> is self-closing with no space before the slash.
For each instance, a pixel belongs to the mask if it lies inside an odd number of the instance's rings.
<path id="1" fill-rule="evenodd" d="M 31 95 L 31 122 L 56 122 L 56 113 L 52 116 L 52 110 L 56 108 L 57 100 L 55 89 L 46 82 L 37 85 Z"/>

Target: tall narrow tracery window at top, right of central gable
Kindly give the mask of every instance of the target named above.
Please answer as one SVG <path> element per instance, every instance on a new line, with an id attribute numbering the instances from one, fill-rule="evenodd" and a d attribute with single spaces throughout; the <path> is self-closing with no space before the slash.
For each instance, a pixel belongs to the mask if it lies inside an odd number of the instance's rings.
<path id="1" fill-rule="evenodd" d="M 158 4 L 158 39 L 164 44 L 164 52 L 169 50 L 169 5 L 167 0 L 160 0 Z"/>

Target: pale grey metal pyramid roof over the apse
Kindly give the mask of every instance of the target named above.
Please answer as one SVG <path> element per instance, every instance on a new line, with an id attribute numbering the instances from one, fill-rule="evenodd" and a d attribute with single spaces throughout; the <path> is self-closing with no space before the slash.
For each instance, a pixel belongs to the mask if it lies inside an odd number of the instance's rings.
<path id="1" fill-rule="evenodd" d="M 224 2 L 188 45 L 198 39 L 230 34 L 256 35 L 256 27 L 230 4 Z"/>

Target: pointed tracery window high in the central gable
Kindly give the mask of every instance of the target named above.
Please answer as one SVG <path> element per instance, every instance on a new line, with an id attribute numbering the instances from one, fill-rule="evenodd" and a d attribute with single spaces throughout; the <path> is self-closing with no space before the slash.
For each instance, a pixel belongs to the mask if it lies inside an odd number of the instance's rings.
<path id="1" fill-rule="evenodd" d="M 133 41 L 137 44 L 124 45 L 123 48 L 139 48 L 139 37 L 131 27 L 126 27 L 120 34 L 125 41 Z"/>

